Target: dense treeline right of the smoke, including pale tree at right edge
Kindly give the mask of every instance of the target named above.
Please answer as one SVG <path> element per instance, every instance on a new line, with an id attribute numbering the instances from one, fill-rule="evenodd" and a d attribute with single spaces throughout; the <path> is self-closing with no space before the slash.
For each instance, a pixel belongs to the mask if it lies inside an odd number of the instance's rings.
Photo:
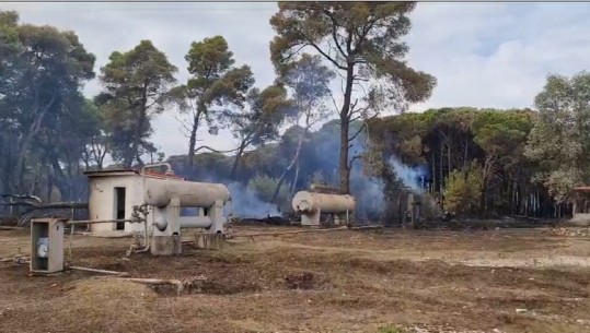
<path id="1" fill-rule="evenodd" d="M 590 73 L 582 71 L 549 75 L 534 111 L 443 108 L 374 119 L 372 150 L 424 170 L 444 210 L 570 216 L 583 195 L 575 188 L 590 183 L 589 91 Z M 391 178 L 385 164 L 374 165 Z"/>

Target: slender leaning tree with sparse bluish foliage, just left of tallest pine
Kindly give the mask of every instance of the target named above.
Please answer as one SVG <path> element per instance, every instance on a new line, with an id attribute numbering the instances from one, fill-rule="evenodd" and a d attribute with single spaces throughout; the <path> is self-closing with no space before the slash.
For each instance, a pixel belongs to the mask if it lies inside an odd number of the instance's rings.
<path id="1" fill-rule="evenodd" d="M 299 155 L 303 144 L 303 139 L 308 135 L 311 127 L 321 120 L 326 119 L 328 109 L 325 105 L 329 96 L 329 82 L 335 78 L 335 73 L 322 64 L 321 56 L 302 55 L 299 61 L 285 72 L 282 83 L 291 91 L 293 112 L 289 115 L 293 126 L 301 126 L 299 139 L 294 154 L 280 175 L 271 203 L 275 202 L 287 174 L 297 165 L 299 166 Z M 293 189 L 299 176 L 299 167 L 293 179 Z M 291 191 L 292 192 L 292 191 Z"/>

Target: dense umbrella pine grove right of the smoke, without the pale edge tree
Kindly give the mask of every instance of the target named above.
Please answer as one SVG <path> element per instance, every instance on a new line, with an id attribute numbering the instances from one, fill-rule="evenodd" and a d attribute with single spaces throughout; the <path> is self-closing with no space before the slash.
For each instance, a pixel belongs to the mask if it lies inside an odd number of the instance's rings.
<path id="1" fill-rule="evenodd" d="M 525 157 L 532 110 L 443 108 L 370 122 L 374 150 L 420 168 L 423 187 L 460 214 L 552 216 L 555 201 Z"/>

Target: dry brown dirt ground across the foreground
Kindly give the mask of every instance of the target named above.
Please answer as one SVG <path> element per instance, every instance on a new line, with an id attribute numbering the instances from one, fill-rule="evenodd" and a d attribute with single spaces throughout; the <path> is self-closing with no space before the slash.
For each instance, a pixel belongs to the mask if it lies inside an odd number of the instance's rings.
<path id="1" fill-rule="evenodd" d="M 76 236 L 72 265 L 206 281 L 175 296 L 1 262 L 0 332 L 590 332 L 588 234 L 346 230 L 171 258 L 126 258 L 129 238 Z M 28 254 L 27 230 L 0 230 L 0 258 L 19 252 Z"/>

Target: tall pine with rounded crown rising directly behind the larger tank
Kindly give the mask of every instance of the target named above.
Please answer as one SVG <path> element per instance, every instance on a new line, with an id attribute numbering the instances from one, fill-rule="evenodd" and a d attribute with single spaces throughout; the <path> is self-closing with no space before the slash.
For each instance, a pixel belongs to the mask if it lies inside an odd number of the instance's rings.
<path id="1" fill-rule="evenodd" d="M 254 79 L 247 66 L 234 67 L 233 52 L 229 50 L 222 36 L 193 41 L 185 59 L 188 61 L 192 76 L 186 84 L 173 88 L 171 95 L 181 111 L 190 117 L 189 121 L 183 121 L 183 124 L 188 132 L 187 165 L 193 167 L 195 153 L 198 151 L 197 131 L 203 120 L 209 123 L 209 132 L 217 134 L 217 127 L 212 123 L 216 118 L 210 115 L 216 110 L 211 108 L 242 106 Z"/>

